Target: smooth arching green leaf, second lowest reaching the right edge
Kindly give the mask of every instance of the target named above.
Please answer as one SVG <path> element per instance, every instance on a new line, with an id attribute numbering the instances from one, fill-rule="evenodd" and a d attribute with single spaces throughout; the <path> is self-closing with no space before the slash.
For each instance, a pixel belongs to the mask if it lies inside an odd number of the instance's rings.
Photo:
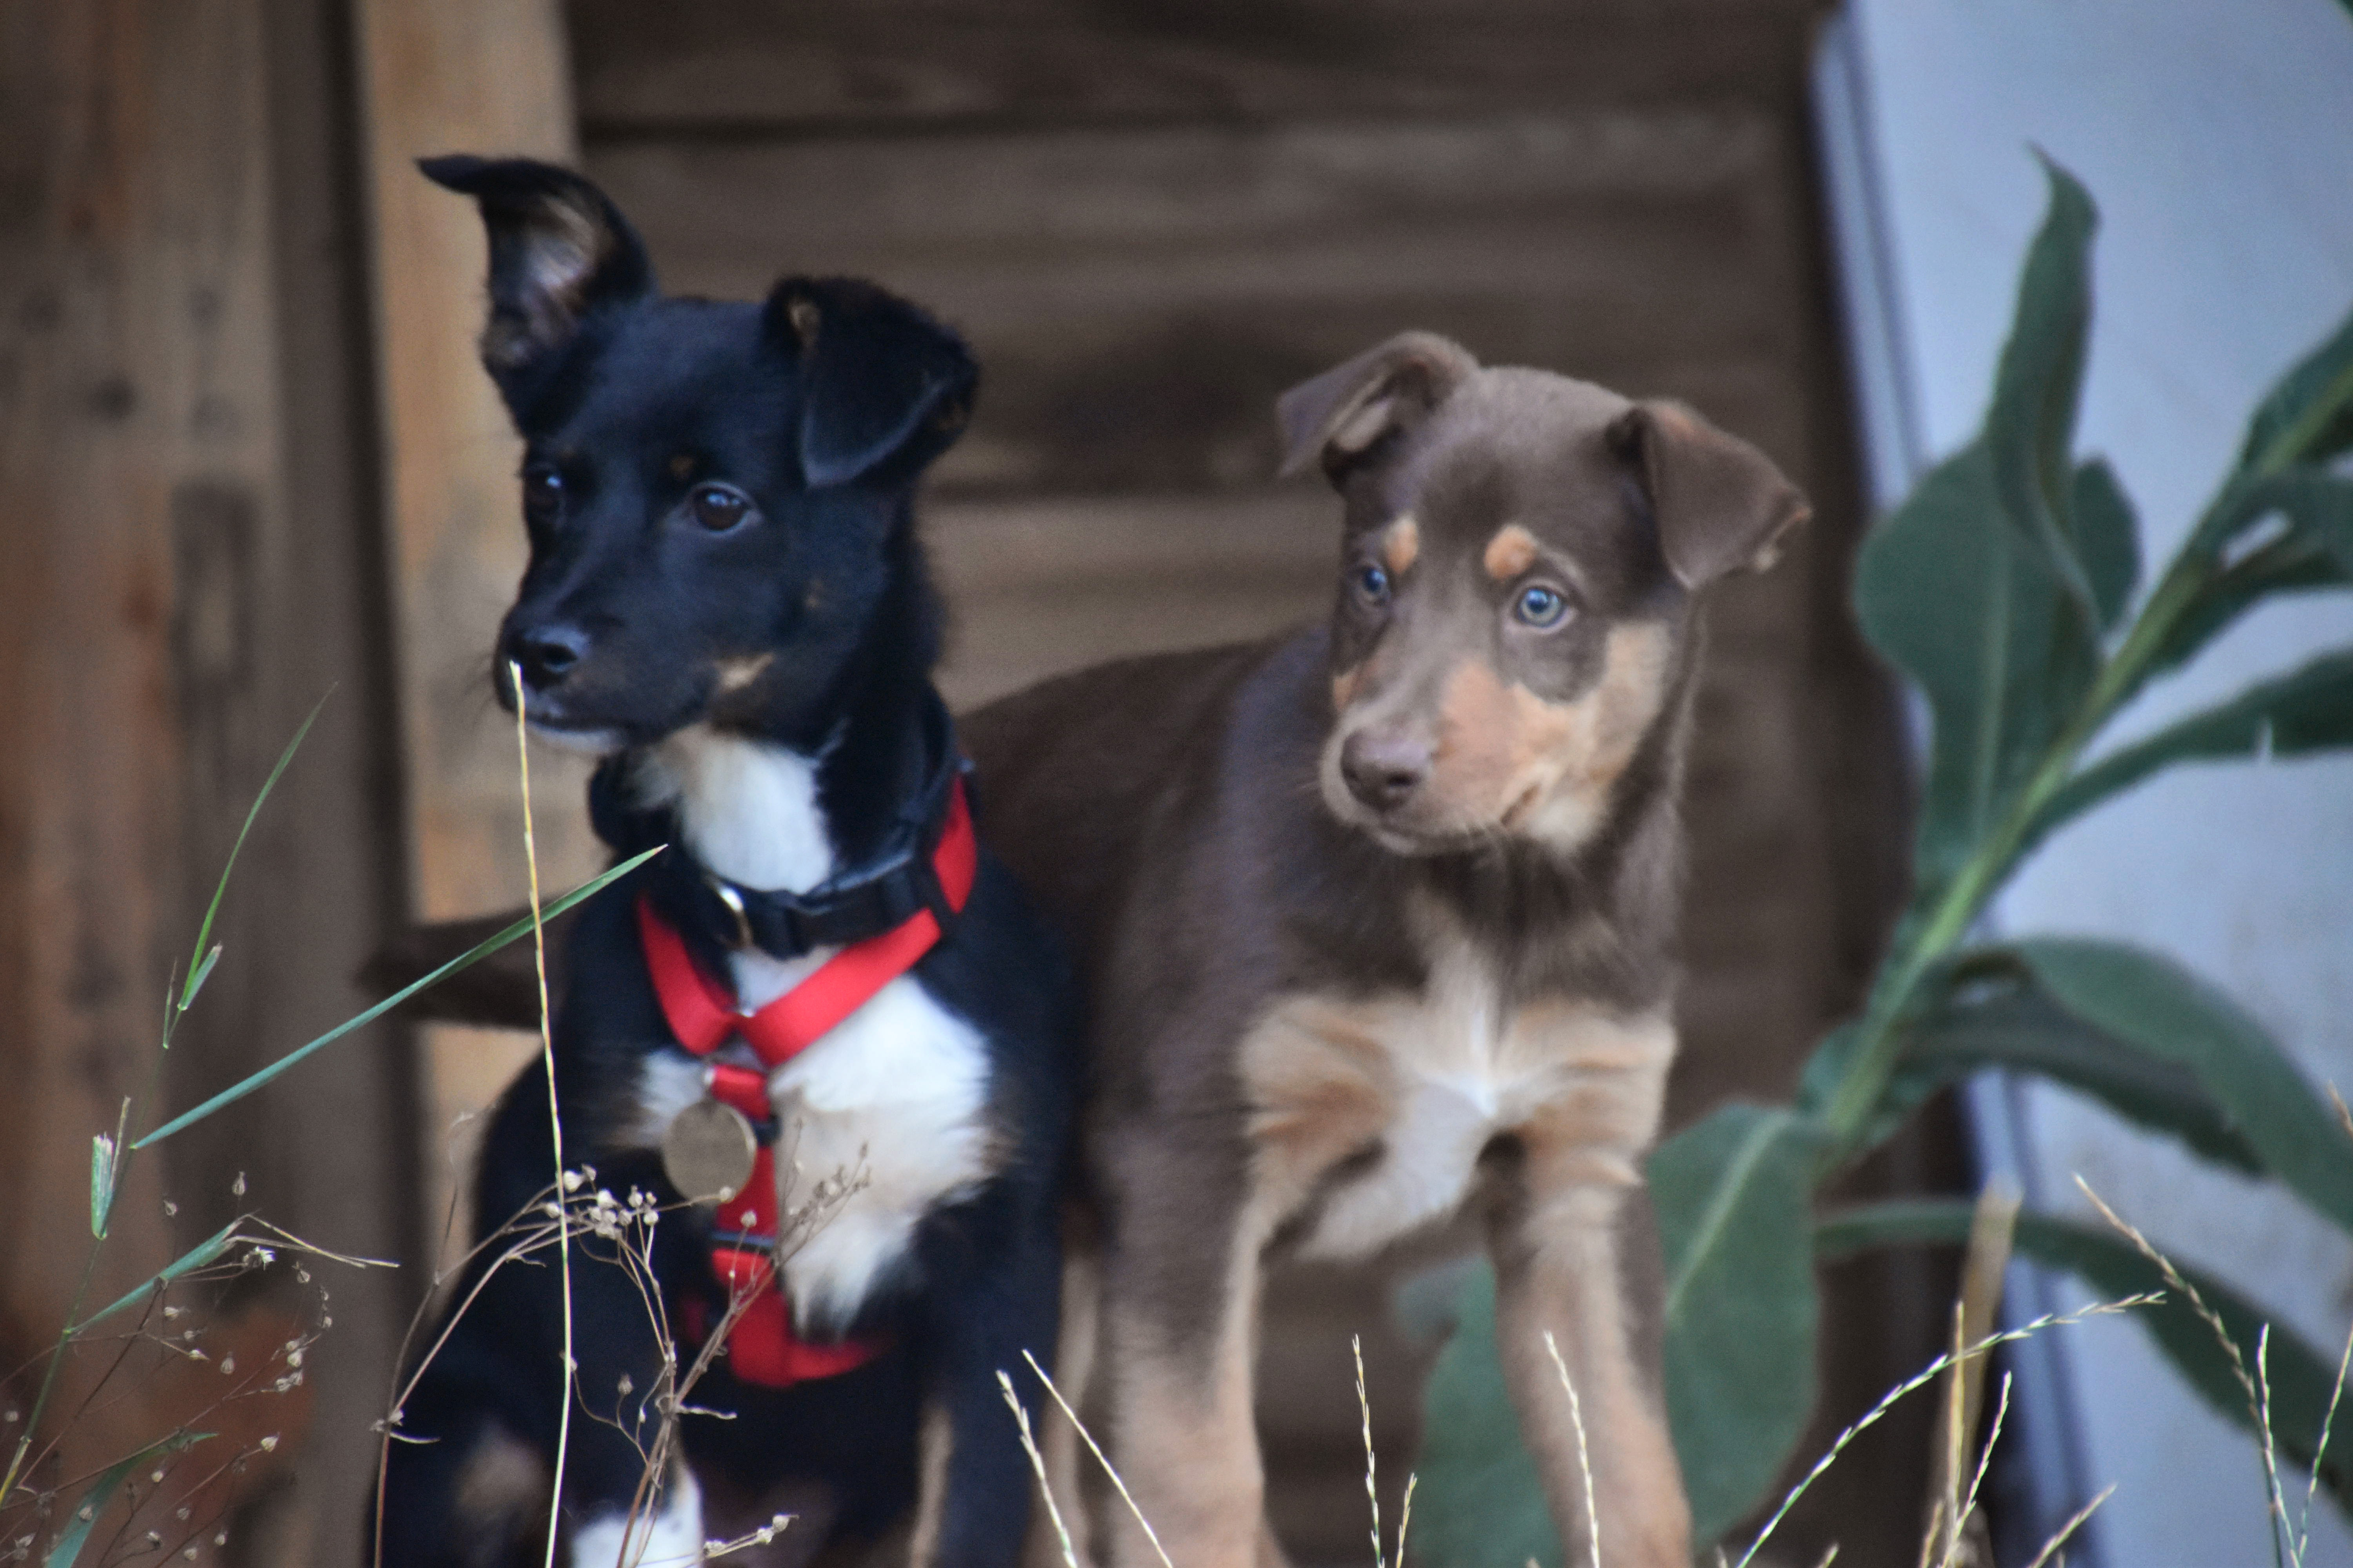
<path id="1" fill-rule="evenodd" d="M 2195 1072 L 2264 1168 L 2353 1232 L 2353 1138 L 2235 1001 L 2122 943 L 2035 938 L 2009 952 L 2075 1018 Z"/>

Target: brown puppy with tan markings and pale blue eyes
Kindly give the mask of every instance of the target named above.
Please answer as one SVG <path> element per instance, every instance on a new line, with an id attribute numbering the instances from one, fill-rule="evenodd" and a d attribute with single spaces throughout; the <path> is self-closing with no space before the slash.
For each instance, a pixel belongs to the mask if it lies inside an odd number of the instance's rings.
<path id="1" fill-rule="evenodd" d="M 998 853 L 1085 952 L 1113 1460 L 1176 1563 L 1252 1563 L 1261 1272 L 1478 1204 L 1569 1561 L 1586 1495 L 1546 1333 L 1609 1561 L 1682 1568 L 1642 1157 L 1675 1051 L 1692 611 L 1807 505 L 1689 409 L 1428 334 L 1280 418 L 1285 470 L 1320 461 L 1344 498 L 1329 628 L 965 724 Z M 1153 1561 L 1118 1528 L 1115 1563 Z"/>

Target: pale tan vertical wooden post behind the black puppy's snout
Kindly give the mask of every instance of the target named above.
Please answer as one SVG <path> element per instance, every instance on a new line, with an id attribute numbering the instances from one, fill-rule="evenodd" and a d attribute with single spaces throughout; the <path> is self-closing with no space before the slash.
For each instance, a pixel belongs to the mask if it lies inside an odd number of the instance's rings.
<path id="1" fill-rule="evenodd" d="M 475 360 L 485 244 L 473 202 L 416 172 L 433 153 L 569 160 L 572 82 L 555 0 L 360 0 L 386 433 L 391 597 L 407 738 L 409 893 L 442 919 L 527 896 L 515 731 L 494 708 L 489 651 L 522 574 L 520 444 Z M 534 759 L 541 884 L 595 870 L 586 769 Z M 489 1103 L 529 1041 L 426 1030 L 433 1225 L 461 1182 L 452 1124 Z M 464 1213 L 456 1229 L 464 1232 Z"/>

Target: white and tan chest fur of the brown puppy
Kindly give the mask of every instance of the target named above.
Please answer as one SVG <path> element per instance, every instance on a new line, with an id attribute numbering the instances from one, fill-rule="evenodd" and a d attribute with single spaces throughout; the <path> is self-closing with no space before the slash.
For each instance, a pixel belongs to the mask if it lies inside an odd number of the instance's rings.
<path id="1" fill-rule="evenodd" d="M 1315 1201 L 1301 1251 L 1358 1258 L 1452 1215 L 1499 1135 L 1577 1180 L 1631 1185 L 1657 1135 L 1673 1025 L 1577 1001 L 1506 1009 L 1475 954 L 1419 992 L 1287 997 L 1242 1041 L 1268 1227 Z M 1362 1171 L 1346 1168 L 1362 1159 Z"/>

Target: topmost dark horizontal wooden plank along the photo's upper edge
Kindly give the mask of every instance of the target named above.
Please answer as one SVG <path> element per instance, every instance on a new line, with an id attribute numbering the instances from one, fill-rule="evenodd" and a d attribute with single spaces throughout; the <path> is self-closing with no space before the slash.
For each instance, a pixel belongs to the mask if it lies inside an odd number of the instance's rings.
<path id="1" fill-rule="evenodd" d="M 1459 113 L 1777 96 L 1809 0 L 659 9 L 574 0 L 591 136 Z"/>

